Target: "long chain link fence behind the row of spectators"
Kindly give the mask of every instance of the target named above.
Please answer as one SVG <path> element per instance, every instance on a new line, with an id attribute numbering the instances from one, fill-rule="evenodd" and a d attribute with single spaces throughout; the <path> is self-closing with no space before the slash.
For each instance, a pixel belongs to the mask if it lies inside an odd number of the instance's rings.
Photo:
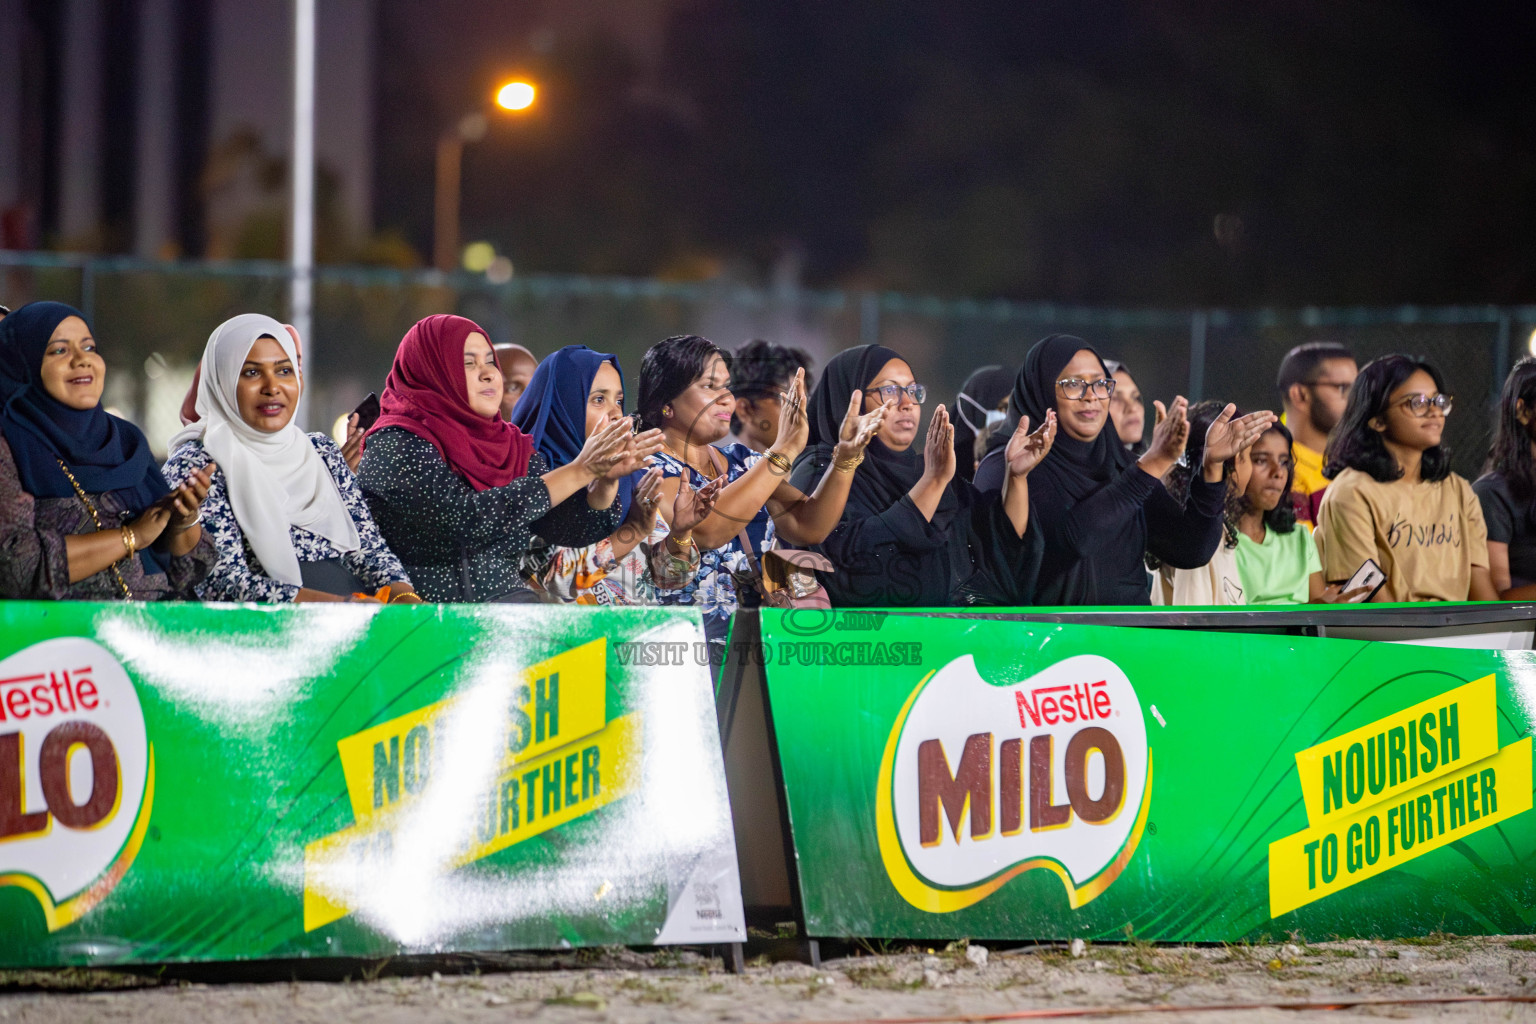
<path id="1" fill-rule="evenodd" d="M 106 401 L 163 448 L 203 344 L 220 322 L 261 312 L 284 319 L 289 269 L 280 263 L 167 264 L 68 253 L 0 252 L 0 302 L 80 307 L 108 361 Z M 725 347 L 751 338 L 800 345 L 817 365 L 860 342 L 903 353 L 937 401 L 952 402 L 975 367 L 1017 367 L 1051 333 L 1080 335 L 1121 359 L 1154 398 L 1233 401 L 1278 408 L 1275 373 L 1292 345 L 1338 341 L 1361 364 L 1389 352 L 1427 358 L 1456 395 L 1447 427 L 1456 470 L 1479 471 L 1504 375 L 1527 352 L 1536 307 L 1396 307 L 1299 310 L 1114 310 L 894 293 L 757 289 L 723 282 L 481 275 L 318 267 L 312 338 L 306 339 L 306 418 L 330 430 L 379 391 L 406 330 L 453 312 L 493 342 L 535 355 L 585 344 L 613 352 L 628 372 L 630 404 L 645 348 L 699 333 Z"/>

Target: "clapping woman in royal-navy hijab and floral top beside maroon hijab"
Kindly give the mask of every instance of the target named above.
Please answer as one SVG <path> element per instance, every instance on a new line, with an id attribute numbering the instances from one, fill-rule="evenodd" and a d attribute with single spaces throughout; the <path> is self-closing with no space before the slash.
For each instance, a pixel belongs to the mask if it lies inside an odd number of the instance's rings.
<path id="1" fill-rule="evenodd" d="M 581 453 L 587 436 L 624 416 L 624 372 L 617 356 L 587 345 L 567 345 L 533 372 L 511 410 L 511 422 L 533 438 L 550 468 Z M 579 605 L 654 603 L 656 586 L 687 586 L 699 568 L 693 542 L 697 525 L 714 504 L 719 484 L 680 488 L 673 527 L 657 514 L 662 473 L 645 459 L 660 450 L 660 431 L 636 434 L 625 461 L 598 485 L 616 488 L 624 522 L 613 536 L 585 548 L 535 550 L 530 574 L 559 600 Z"/>

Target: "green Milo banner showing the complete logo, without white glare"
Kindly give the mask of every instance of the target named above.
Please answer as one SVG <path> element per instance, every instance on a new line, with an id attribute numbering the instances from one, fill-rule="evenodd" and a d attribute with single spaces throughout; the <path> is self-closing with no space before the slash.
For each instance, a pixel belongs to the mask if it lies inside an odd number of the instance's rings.
<path id="1" fill-rule="evenodd" d="M 920 613 L 762 629 L 809 935 L 1536 929 L 1528 651 Z"/>

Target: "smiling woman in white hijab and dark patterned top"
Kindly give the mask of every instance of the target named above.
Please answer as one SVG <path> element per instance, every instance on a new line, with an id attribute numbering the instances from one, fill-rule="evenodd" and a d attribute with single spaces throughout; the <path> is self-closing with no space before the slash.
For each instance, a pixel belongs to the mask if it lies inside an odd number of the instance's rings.
<path id="1" fill-rule="evenodd" d="M 270 316 L 244 313 L 223 322 L 203 350 L 197 421 L 172 438 L 164 470 L 180 482 L 217 464 L 203 527 L 218 562 L 198 596 L 416 602 L 341 448 L 293 424 L 303 391 L 295 342 Z"/>

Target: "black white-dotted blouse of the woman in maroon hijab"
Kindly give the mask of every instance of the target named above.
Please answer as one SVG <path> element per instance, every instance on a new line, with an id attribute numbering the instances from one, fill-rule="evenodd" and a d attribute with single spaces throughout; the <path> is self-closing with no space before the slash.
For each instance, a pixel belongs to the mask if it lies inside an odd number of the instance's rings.
<path id="1" fill-rule="evenodd" d="M 358 484 L 422 599 L 484 602 L 530 590 L 518 570 L 531 534 L 579 548 L 619 528 L 619 502 L 591 508 L 585 490 L 550 510 L 548 471 L 535 451 L 527 476 L 476 491 L 430 441 L 386 427 L 362 448 Z"/>

